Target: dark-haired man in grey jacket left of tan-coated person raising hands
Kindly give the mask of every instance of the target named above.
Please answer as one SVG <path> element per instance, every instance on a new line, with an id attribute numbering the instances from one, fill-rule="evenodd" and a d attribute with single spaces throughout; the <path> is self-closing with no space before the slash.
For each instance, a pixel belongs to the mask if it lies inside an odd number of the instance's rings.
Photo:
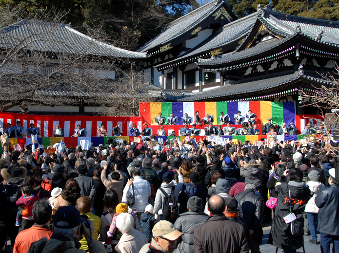
<path id="1" fill-rule="evenodd" d="M 81 164 L 78 167 L 79 177 L 75 178 L 75 180 L 79 183 L 81 196 L 88 196 L 89 199 L 91 199 L 93 206 L 96 191 L 95 183 L 93 178 L 87 177 L 87 172 L 88 172 L 87 165 Z"/>

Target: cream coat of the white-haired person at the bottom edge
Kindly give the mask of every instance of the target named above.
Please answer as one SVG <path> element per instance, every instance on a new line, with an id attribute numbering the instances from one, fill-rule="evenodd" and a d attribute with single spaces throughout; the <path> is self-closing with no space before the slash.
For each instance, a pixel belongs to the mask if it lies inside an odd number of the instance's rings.
<path id="1" fill-rule="evenodd" d="M 132 228 L 123 234 L 115 247 L 118 253 L 138 253 L 142 246 L 147 243 L 147 238 L 138 230 Z"/>

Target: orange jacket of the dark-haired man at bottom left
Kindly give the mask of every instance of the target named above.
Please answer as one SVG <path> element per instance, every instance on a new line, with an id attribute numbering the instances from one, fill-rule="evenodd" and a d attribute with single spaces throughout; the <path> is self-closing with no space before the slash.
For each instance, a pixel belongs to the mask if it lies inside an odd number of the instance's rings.
<path id="1" fill-rule="evenodd" d="M 25 229 L 17 235 L 13 253 L 27 253 L 32 242 L 39 241 L 42 237 L 46 237 L 49 240 L 52 234 L 53 232 L 47 226 L 33 225 L 33 227 Z"/>

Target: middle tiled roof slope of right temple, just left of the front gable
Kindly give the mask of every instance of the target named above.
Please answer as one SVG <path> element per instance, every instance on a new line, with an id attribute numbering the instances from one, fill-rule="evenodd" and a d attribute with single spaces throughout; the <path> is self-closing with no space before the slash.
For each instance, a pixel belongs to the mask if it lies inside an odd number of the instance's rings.
<path id="1" fill-rule="evenodd" d="M 184 54 L 181 54 L 175 60 L 159 64 L 158 66 L 156 66 L 156 68 L 191 58 L 194 55 L 199 55 L 205 53 L 206 51 L 209 52 L 218 49 L 224 45 L 237 41 L 240 38 L 243 38 L 244 36 L 248 35 L 251 32 L 257 20 L 257 17 L 258 13 L 254 13 L 224 25 L 222 28 L 219 28 L 211 36 L 206 38 L 196 47 L 190 49 Z"/>

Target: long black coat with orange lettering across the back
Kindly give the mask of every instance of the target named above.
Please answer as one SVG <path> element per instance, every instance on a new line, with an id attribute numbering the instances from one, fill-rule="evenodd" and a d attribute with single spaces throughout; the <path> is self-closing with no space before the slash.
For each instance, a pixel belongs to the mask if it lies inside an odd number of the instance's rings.
<path id="1" fill-rule="evenodd" d="M 288 189 L 291 192 L 292 212 L 296 215 L 298 221 L 302 222 L 302 224 L 304 223 L 302 215 L 311 194 L 308 185 L 295 181 L 289 181 L 288 184 L 283 182 L 277 185 L 275 191 L 278 194 L 278 205 L 273 216 L 268 243 L 283 250 L 297 250 L 303 245 L 304 237 L 303 235 L 292 235 L 291 223 L 286 224 L 283 218 L 290 214 Z"/>

